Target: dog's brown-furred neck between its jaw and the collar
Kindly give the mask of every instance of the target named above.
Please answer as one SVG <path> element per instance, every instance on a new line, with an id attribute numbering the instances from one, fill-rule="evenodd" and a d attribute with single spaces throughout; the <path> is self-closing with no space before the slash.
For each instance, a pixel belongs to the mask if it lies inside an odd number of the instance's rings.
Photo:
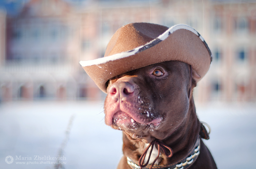
<path id="1" fill-rule="evenodd" d="M 186 118 L 180 124 L 180 126 L 167 138 L 161 140 L 173 150 L 173 155 L 168 158 L 164 155 L 158 160 L 158 165 L 169 165 L 181 158 L 184 158 L 188 152 L 194 146 L 200 130 L 200 122 L 196 115 L 196 109 L 194 105 L 193 96 L 189 99 L 189 110 Z M 123 151 L 124 155 L 132 158 L 134 161 L 139 160 L 142 152 L 145 149 L 145 143 L 131 138 L 129 135 L 123 132 Z"/>

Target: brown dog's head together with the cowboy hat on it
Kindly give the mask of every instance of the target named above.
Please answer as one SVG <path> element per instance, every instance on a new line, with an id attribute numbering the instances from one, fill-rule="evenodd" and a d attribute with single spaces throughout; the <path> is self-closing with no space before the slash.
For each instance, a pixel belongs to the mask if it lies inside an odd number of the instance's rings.
<path id="1" fill-rule="evenodd" d="M 189 26 L 132 23 L 116 31 L 103 58 L 80 64 L 108 93 L 106 124 L 149 143 L 169 136 L 186 118 L 192 79 L 206 74 L 211 58 Z"/>

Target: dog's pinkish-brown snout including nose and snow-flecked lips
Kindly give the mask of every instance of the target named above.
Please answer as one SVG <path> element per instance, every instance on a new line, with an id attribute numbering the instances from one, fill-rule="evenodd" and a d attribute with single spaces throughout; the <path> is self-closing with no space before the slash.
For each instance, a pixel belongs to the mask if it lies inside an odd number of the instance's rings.
<path id="1" fill-rule="evenodd" d="M 133 79 L 132 79 L 133 78 Z M 140 87 L 139 87 L 140 86 Z M 108 87 L 105 101 L 105 122 L 115 129 L 135 129 L 152 123 L 158 126 L 162 119 L 154 112 L 145 90 L 145 84 L 134 77 L 121 77 Z M 141 90 L 142 89 L 142 90 Z"/>

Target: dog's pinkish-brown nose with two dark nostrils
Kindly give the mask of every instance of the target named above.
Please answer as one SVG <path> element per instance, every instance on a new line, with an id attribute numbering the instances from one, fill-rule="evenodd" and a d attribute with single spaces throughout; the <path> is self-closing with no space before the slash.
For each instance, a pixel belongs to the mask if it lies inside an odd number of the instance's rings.
<path id="1" fill-rule="evenodd" d="M 109 89 L 109 94 L 116 99 L 123 99 L 133 95 L 134 86 L 128 82 L 115 82 Z"/>

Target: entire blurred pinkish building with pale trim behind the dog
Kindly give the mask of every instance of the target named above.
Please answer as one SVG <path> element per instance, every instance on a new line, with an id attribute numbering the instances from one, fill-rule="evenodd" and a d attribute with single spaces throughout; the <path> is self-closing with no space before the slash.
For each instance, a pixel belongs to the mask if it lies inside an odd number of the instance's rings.
<path id="1" fill-rule="evenodd" d="M 197 101 L 256 101 L 256 2 L 214 0 L 31 0 L 19 15 L 0 11 L 4 100 L 99 99 L 79 60 L 102 57 L 128 23 L 195 28 L 212 50 Z"/>

